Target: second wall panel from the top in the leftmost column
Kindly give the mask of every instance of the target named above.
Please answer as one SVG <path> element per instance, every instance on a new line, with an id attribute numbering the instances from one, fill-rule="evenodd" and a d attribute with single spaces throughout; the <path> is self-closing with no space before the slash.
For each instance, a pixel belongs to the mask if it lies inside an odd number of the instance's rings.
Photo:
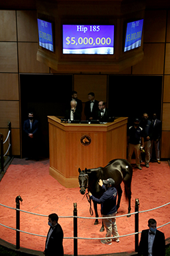
<path id="1" fill-rule="evenodd" d="M 0 72 L 18 71 L 16 42 L 0 42 Z"/>

